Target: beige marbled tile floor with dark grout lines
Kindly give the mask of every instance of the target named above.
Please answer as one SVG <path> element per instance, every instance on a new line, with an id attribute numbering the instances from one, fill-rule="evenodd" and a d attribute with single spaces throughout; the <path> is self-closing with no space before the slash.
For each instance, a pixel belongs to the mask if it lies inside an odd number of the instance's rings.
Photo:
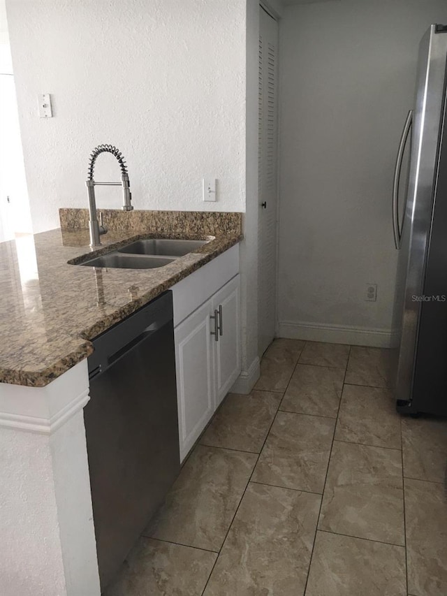
<path id="1" fill-rule="evenodd" d="M 275 340 L 106 596 L 446 596 L 447 421 L 401 419 L 387 364 Z"/>

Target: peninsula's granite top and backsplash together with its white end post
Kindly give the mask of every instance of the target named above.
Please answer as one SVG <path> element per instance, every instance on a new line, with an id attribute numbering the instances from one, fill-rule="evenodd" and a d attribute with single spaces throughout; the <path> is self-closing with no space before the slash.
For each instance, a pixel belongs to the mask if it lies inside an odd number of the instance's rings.
<path id="1" fill-rule="evenodd" d="M 156 269 L 82 267 L 68 261 L 90 253 L 87 210 L 60 215 L 62 229 L 0 244 L 1 556 L 24 596 L 99 594 L 82 416 L 91 340 L 241 239 L 237 213 L 106 210 L 89 256 L 143 237 L 208 242 Z"/>

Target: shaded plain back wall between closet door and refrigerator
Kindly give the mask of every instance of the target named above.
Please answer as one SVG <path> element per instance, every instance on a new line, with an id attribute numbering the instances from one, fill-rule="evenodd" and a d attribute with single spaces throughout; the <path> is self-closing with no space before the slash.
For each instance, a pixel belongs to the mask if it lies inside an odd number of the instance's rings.
<path id="1" fill-rule="evenodd" d="M 318 339 L 321 326 L 390 328 L 395 155 L 412 106 L 418 44 L 432 22 L 447 22 L 445 0 L 343 0 L 284 10 L 282 334 L 314 326 Z M 376 303 L 365 301 L 368 283 L 379 286 Z M 336 328 L 330 337 L 345 336 Z M 374 340 L 374 333 L 365 337 Z"/>

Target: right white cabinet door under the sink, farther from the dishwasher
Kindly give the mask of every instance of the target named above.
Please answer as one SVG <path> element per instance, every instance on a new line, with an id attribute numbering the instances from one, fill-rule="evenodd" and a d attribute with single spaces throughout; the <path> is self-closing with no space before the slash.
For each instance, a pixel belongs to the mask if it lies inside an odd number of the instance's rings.
<path id="1" fill-rule="evenodd" d="M 239 275 L 214 294 L 212 310 L 219 320 L 219 341 L 213 335 L 217 407 L 240 374 Z"/>

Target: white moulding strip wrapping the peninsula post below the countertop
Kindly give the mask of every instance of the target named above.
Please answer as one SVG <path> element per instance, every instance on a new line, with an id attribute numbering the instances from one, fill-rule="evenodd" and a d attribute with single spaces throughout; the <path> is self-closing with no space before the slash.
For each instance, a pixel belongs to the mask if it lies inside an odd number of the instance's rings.
<path id="1" fill-rule="evenodd" d="M 29 433 L 40 433 L 51 435 L 71 418 L 78 410 L 82 409 L 89 401 L 89 390 L 82 391 L 78 397 L 66 404 L 50 419 L 40 418 L 38 416 L 27 416 L 26 414 L 8 414 L 0 412 L 0 426 L 6 428 L 15 428 L 16 430 L 26 430 Z"/>

